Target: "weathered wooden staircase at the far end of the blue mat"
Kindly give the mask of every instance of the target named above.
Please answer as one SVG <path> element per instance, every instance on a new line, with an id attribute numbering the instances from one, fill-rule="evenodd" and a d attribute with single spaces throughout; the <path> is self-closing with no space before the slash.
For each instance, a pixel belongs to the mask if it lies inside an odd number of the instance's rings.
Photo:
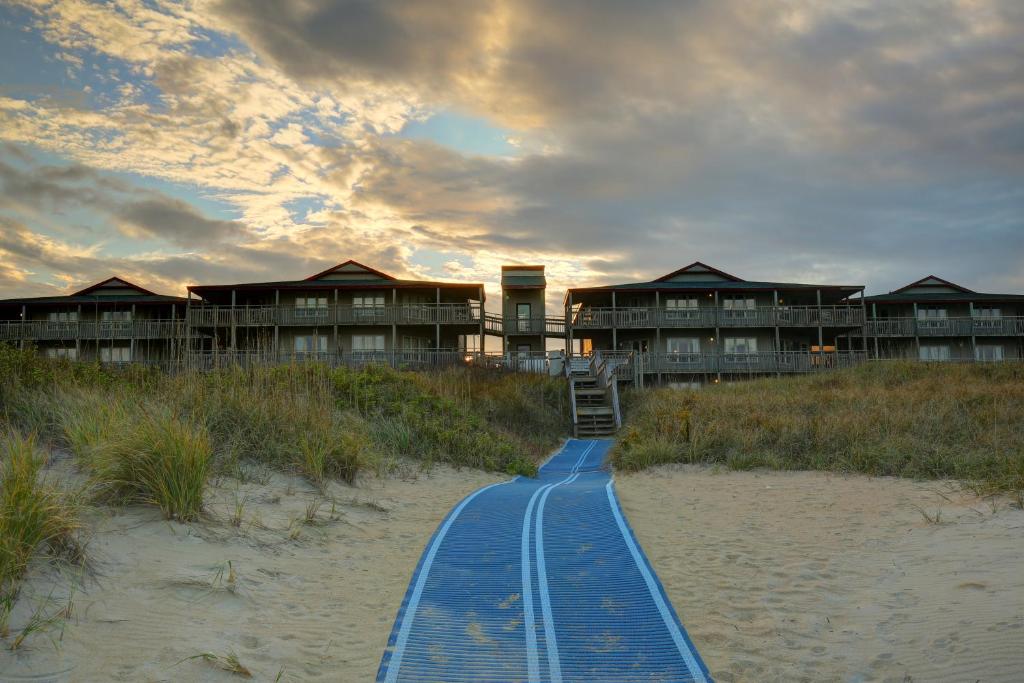
<path id="1" fill-rule="evenodd" d="M 599 353 L 569 358 L 565 364 L 572 408 L 572 435 L 578 438 L 611 436 L 622 426 L 618 387 Z"/>

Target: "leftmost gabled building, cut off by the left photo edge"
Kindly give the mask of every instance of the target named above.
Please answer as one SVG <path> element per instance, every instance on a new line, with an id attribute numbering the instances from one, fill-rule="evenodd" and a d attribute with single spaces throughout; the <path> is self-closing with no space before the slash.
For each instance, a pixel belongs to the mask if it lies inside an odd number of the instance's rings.
<path id="1" fill-rule="evenodd" d="M 183 351 L 185 304 L 110 278 L 67 296 L 0 301 L 0 342 L 72 360 L 170 361 Z"/>

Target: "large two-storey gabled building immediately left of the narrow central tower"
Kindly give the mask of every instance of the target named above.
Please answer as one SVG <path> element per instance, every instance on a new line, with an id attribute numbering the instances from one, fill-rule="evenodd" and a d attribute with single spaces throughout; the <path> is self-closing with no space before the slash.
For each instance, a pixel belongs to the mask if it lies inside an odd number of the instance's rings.
<path id="1" fill-rule="evenodd" d="M 345 261 L 304 280 L 188 288 L 190 355 L 402 365 L 454 360 L 484 337 L 482 284 L 399 280 Z M 207 358 L 209 360 L 207 360 Z"/>

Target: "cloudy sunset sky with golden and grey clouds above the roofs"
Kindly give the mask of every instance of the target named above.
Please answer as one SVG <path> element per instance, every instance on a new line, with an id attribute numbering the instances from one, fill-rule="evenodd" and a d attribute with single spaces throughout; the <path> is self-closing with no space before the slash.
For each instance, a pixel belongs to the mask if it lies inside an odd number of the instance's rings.
<path id="1" fill-rule="evenodd" d="M 0 0 L 0 296 L 348 258 L 1024 292 L 1024 3 Z"/>

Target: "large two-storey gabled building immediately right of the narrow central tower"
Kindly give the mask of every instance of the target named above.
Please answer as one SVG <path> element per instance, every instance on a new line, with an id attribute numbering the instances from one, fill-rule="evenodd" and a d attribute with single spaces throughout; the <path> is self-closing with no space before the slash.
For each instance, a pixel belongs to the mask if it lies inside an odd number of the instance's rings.
<path id="1" fill-rule="evenodd" d="M 627 354 L 671 381 L 806 372 L 864 359 L 861 286 L 752 282 L 700 262 L 565 294 L 570 348 Z"/>

